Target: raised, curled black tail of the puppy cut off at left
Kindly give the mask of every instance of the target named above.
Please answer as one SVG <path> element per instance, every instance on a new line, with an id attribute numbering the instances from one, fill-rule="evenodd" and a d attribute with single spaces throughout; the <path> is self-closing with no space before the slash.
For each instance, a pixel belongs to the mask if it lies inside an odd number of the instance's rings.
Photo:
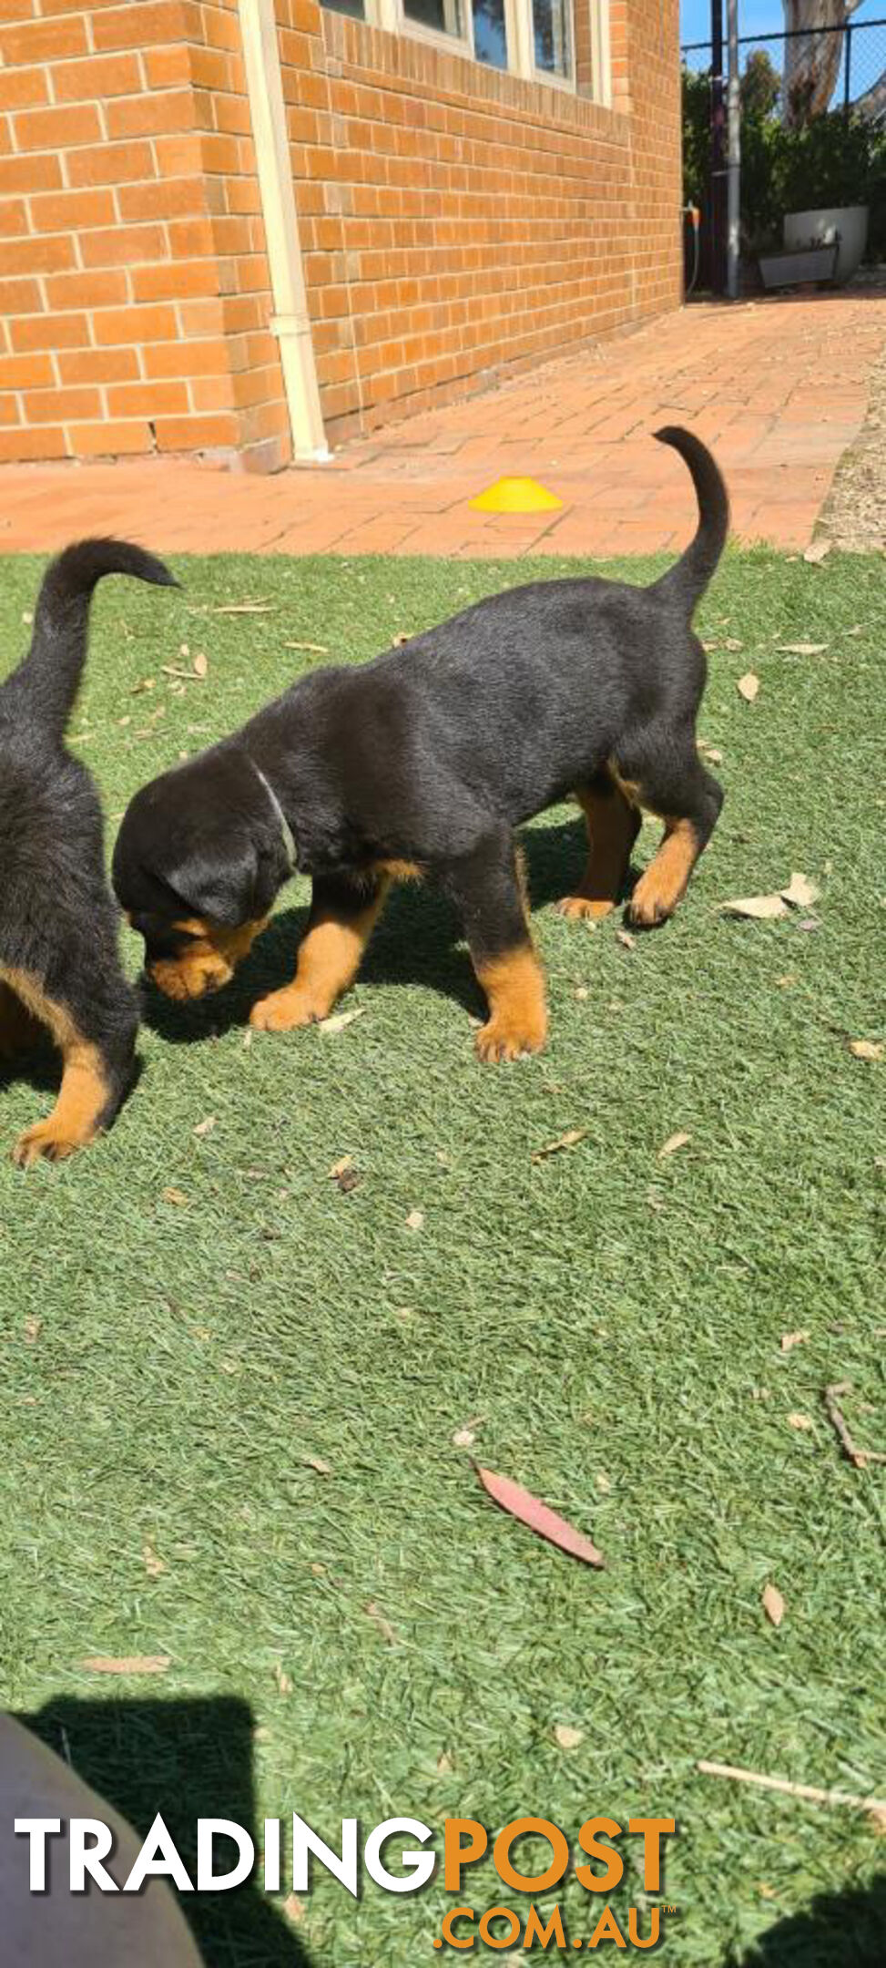
<path id="1" fill-rule="evenodd" d="M 126 539 L 81 539 L 49 563 L 33 612 L 32 647 L 16 673 L 30 712 L 59 738 L 77 697 L 87 657 L 93 588 L 104 575 L 134 575 L 158 588 L 177 588 L 175 575 L 154 553 Z"/>

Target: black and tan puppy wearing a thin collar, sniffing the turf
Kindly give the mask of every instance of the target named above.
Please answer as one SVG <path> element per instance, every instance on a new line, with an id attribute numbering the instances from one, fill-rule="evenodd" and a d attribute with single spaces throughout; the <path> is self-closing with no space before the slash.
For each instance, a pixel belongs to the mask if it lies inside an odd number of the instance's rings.
<path id="1" fill-rule="evenodd" d="M 360 669 L 313 671 L 136 793 L 114 888 L 169 998 L 224 984 L 299 868 L 313 903 L 295 980 L 256 1004 L 252 1023 L 325 1017 L 388 884 L 419 876 L 461 911 L 488 1000 L 480 1059 L 538 1051 L 545 988 L 514 827 L 567 793 L 585 811 L 589 860 L 561 909 L 614 907 L 648 807 L 664 840 L 630 917 L 650 927 L 671 913 L 723 803 L 695 746 L 705 653 L 691 616 L 728 502 L 697 437 L 658 437 L 691 470 L 699 529 L 654 586 L 571 579 L 496 594 Z"/>

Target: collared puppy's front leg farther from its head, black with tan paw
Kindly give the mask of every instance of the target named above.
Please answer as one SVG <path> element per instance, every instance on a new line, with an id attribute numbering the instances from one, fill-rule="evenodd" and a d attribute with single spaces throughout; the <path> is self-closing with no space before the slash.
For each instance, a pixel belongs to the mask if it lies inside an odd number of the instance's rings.
<path id="1" fill-rule="evenodd" d="M 522 862 L 510 827 L 490 830 L 473 854 L 451 862 L 443 886 L 461 911 L 488 1002 L 488 1021 L 476 1033 L 478 1057 L 500 1061 L 539 1053 L 547 1035 L 545 980 L 532 947 Z"/>

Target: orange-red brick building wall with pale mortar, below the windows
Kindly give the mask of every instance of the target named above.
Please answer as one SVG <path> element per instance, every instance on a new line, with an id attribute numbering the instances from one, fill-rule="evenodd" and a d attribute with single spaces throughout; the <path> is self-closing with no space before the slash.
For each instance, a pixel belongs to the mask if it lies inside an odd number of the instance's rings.
<path id="1" fill-rule="evenodd" d="M 677 0 L 610 0 L 610 110 L 276 12 L 333 441 L 677 303 Z M 0 0 L 0 461 L 285 462 L 236 0 Z"/>

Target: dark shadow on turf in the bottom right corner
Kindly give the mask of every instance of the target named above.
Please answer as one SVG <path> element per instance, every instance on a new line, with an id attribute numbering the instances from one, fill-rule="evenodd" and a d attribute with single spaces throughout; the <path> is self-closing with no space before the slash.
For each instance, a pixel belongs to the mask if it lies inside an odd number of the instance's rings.
<path id="1" fill-rule="evenodd" d="M 723 1968 L 882 1968 L 886 1962 L 886 1874 L 868 1887 L 821 1893 L 803 1913 L 778 1921 L 748 1954 Z"/>

